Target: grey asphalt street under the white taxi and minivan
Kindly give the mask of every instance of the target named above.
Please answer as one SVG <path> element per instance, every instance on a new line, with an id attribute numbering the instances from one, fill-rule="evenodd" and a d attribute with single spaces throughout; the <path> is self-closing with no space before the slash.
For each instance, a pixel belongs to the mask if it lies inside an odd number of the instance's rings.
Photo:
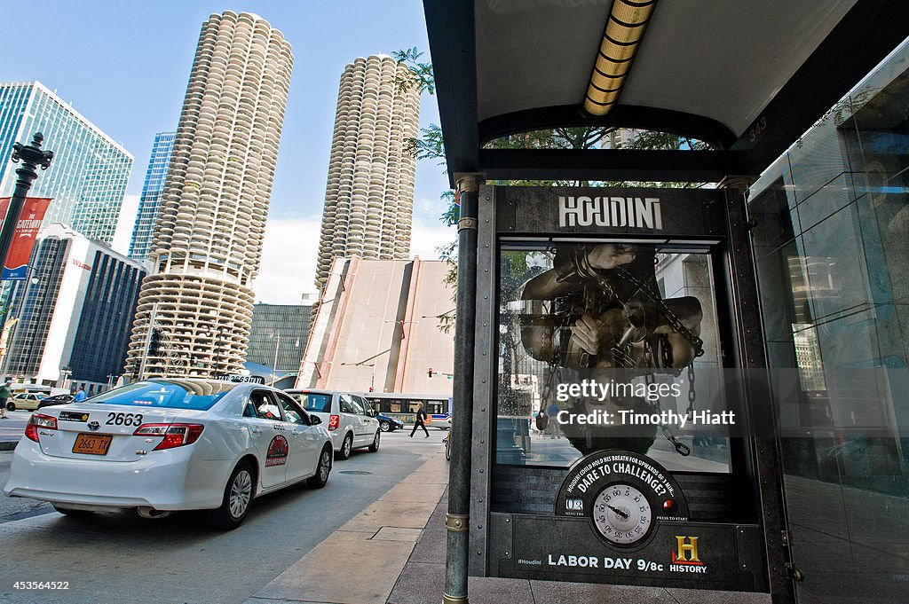
<path id="1" fill-rule="evenodd" d="M 429 433 L 411 440 L 409 427 L 384 432 L 377 453 L 335 461 L 325 489 L 266 495 L 228 532 L 209 529 L 203 512 L 75 520 L 35 500 L 0 497 L 0 601 L 239 604 L 439 451 L 445 431 Z M 0 452 L 3 483 L 12 455 Z M 338 581 L 354 563 L 338 560 Z M 16 581 L 67 581 L 69 589 L 15 589 Z"/>

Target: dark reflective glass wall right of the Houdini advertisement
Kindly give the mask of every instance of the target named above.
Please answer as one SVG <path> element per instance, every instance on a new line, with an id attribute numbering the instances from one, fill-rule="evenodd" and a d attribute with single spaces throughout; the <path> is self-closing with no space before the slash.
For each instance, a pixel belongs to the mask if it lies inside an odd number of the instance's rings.
<path id="1" fill-rule="evenodd" d="M 800 598 L 909 576 L 909 45 L 749 193 Z"/>

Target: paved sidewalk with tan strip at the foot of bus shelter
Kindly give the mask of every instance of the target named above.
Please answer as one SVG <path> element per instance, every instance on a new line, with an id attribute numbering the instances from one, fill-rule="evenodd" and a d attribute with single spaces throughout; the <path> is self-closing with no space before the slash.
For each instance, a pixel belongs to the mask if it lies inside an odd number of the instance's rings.
<path id="1" fill-rule="evenodd" d="M 448 464 L 442 452 L 245 604 L 441 604 Z M 769 604 L 765 594 L 472 577 L 471 604 Z"/>

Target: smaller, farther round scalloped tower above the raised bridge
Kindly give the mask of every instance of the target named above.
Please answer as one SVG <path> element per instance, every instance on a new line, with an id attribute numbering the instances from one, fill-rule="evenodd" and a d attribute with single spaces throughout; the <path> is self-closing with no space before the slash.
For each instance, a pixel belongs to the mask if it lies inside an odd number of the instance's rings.
<path id="1" fill-rule="evenodd" d="M 419 86 L 404 64 L 387 55 L 347 64 L 325 186 L 320 290 L 335 257 L 409 258 L 416 158 L 406 145 L 419 121 Z"/>

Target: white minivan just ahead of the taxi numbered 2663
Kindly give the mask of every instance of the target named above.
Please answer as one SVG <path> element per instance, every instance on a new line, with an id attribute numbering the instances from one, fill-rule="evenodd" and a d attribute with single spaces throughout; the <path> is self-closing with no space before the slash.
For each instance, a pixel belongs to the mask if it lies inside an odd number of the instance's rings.
<path id="1" fill-rule="evenodd" d="M 335 443 L 335 457 L 346 460 L 351 451 L 368 447 L 379 450 L 382 430 L 375 411 L 359 394 L 326 390 L 288 390 L 306 410 L 322 418 Z"/>

